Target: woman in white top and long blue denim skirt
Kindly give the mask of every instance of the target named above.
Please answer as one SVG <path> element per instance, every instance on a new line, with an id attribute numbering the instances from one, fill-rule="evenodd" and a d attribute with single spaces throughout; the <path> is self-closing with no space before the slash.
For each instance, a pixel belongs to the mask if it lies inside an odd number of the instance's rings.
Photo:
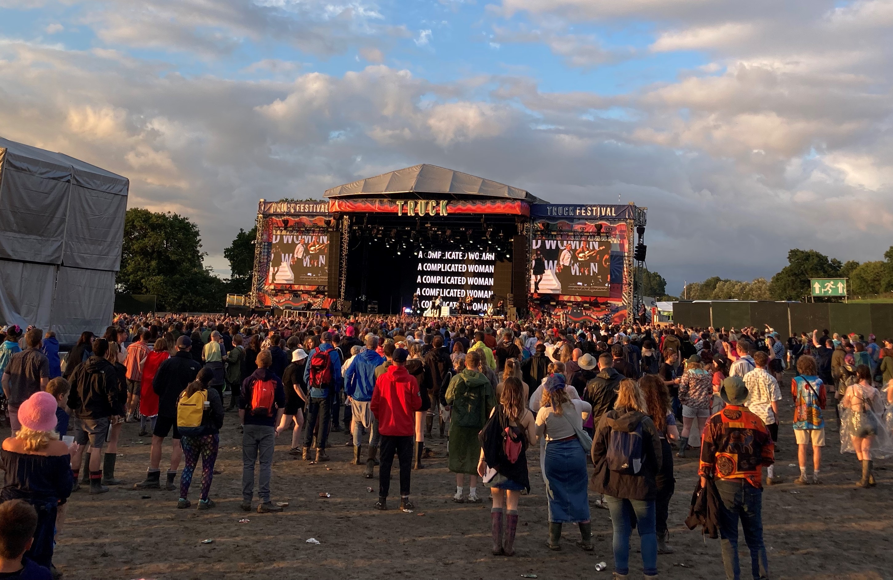
<path id="1" fill-rule="evenodd" d="M 554 363 L 556 366 L 562 363 Z M 554 373 L 546 379 L 537 412 L 537 435 L 546 440 L 543 479 L 549 508 L 549 550 L 561 550 L 561 530 L 565 523 L 580 526 L 582 550 L 592 551 L 592 522 L 586 481 L 588 441 L 580 437 L 583 420 L 592 411 L 588 402 L 572 399 L 565 390 L 564 376 Z M 588 435 L 587 435 L 588 438 Z"/>

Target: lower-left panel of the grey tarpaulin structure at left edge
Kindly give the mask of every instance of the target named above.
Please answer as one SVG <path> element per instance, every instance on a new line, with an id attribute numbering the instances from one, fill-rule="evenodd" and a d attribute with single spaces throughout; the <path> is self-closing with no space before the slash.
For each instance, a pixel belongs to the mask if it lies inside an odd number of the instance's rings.
<path id="1" fill-rule="evenodd" d="M 0 318 L 4 325 L 50 327 L 56 269 L 52 264 L 0 260 Z"/>

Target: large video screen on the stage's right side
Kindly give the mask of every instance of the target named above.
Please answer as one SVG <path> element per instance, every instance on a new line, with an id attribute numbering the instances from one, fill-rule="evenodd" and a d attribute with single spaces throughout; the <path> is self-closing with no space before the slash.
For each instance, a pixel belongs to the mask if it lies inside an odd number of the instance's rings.
<path id="1" fill-rule="evenodd" d="M 611 244 L 571 236 L 534 236 L 530 292 L 611 295 Z"/>

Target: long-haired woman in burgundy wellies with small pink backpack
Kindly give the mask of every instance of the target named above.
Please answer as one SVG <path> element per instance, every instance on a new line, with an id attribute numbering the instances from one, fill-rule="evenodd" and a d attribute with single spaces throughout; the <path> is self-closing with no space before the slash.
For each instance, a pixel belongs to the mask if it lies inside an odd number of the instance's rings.
<path id="1" fill-rule="evenodd" d="M 515 359 L 508 359 L 515 360 Z M 506 367 L 508 365 L 506 360 Z M 527 397 L 518 377 L 507 377 L 501 384 L 499 403 L 490 417 L 499 419 L 488 423 L 481 431 L 478 475 L 490 488 L 493 507 L 490 510 L 490 528 L 493 537 L 493 555 L 514 555 L 514 534 L 518 527 L 518 501 L 523 490 L 530 492 L 527 473 L 527 447 L 537 443 L 537 426 L 533 413 L 527 409 Z M 488 426 L 491 426 L 488 428 Z M 505 436 L 516 445 L 517 455 L 509 457 L 505 452 Z M 494 475 L 492 470 L 496 471 Z M 488 474 L 491 478 L 488 479 Z M 505 493 L 503 493 L 505 491 Z M 503 506 L 505 506 L 505 543 L 503 543 Z"/>

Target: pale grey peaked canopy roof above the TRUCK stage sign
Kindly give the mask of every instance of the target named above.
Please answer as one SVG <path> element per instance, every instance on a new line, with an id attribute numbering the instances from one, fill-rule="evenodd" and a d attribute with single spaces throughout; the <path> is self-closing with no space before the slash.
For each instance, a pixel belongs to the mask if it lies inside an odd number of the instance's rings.
<path id="1" fill-rule="evenodd" d="M 528 203 L 542 203 L 518 187 L 478 178 L 461 171 L 447 170 L 437 165 L 421 163 L 403 170 L 382 173 L 373 178 L 360 179 L 326 190 L 326 197 L 385 197 L 406 194 L 434 194 L 459 198 L 487 197 L 517 199 Z M 419 195 L 421 197 L 421 195 Z"/>

